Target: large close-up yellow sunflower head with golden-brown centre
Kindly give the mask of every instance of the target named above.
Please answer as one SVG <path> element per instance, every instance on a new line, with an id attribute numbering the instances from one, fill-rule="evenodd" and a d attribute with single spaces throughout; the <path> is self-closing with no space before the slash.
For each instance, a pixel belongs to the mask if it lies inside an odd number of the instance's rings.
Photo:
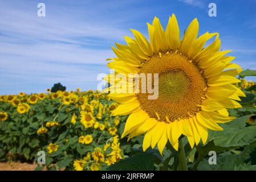
<path id="1" fill-rule="evenodd" d="M 150 43 L 139 31 L 132 30 L 135 39 L 125 37 L 127 45 L 116 44 L 113 52 L 117 57 L 107 59 L 113 60 L 108 67 L 115 70 L 104 78 L 111 84 L 107 90 L 120 88 L 120 82 L 125 82 L 125 86 L 109 94 L 120 103 L 112 115 L 130 114 L 122 137 L 145 133 L 144 151 L 157 144 L 162 153 L 168 140 L 178 150 L 181 135 L 188 138 L 192 148 L 201 139 L 205 143 L 208 129 L 220 131 L 218 123 L 234 119 L 229 117 L 227 109 L 241 107 L 235 100 L 239 101 L 239 96 L 245 94 L 234 84 L 240 82 L 235 76 L 242 68 L 230 63 L 235 58 L 226 56 L 230 51 L 219 51 L 218 33 L 206 32 L 197 37 L 198 29 L 198 21 L 194 19 L 180 40 L 174 14 L 169 17 L 165 31 L 159 19 L 154 18 L 152 24 L 148 23 Z M 204 47 L 214 36 L 213 42 Z M 149 99 L 152 95 L 149 92 L 122 92 L 129 87 L 135 89 L 136 85 L 127 79 L 120 81 L 120 77 L 116 80 L 117 73 L 125 78 L 133 73 L 133 80 L 141 73 L 147 78 L 156 73 L 158 97 Z"/>

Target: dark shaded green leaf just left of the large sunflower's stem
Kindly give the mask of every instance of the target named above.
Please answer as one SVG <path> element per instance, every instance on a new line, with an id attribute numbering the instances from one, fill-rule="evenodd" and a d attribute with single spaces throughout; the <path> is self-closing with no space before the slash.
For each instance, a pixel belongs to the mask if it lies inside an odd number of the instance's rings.
<path id="1" fill-rule="evenodd" d="M 154 168 L 154 155 L 148 152 L 133 155 L 127 159 L 108 167 L 116 171 L 152 171 Z"/>

